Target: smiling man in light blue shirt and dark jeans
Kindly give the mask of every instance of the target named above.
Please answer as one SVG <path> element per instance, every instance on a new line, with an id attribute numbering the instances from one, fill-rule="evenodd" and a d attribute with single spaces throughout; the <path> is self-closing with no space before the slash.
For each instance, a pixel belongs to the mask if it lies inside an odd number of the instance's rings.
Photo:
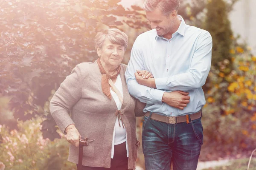
<path id="1" fill-rule="evenodd" d="M 145 0 L 152 30 L 134 42 L 125 73 L 129 92 L 147 103 L 142 145 L 146 170 L 196 170 L 203 144 L 202 86 L 211 66 L 212 37 L 186 25 L 179 0 Z M 154 78 L 148 77 L 151 72 Z"/>

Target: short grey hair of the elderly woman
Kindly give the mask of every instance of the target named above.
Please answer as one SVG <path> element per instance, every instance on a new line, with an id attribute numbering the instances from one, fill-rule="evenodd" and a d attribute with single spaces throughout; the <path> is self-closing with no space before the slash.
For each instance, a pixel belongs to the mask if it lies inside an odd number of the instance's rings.
<path id="1" fill-rule="evenodd" d="M 113 44 L 123 46 L 126 51 L 126 48 L 128 46 L 128 36 L 117 28 L 109 28 L 96 34 L 94 40 L 96 50 L 98 47 L 102 48 L 103 42 L 106 38 L 108 38 L 108 40 L 110 40 L 110 42 L 112 42 Z"/>

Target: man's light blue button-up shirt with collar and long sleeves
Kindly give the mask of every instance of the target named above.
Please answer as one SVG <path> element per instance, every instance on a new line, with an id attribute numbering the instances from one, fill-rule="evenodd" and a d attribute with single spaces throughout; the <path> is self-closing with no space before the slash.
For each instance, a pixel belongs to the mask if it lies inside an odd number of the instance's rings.
<path id="1" fill-rule="evenodd" d="M 183 18 L 172 38 L 159 37 L 152 29 L 140 34 L 131 50 L 125 72 L 128 90 L 132 96 L 147 103 L 144 112 L 180 116 L 198 112 L 205 104 L 204 91 L 212 58 L 212 37 L 208 31 L 186 25 Z M 150 71 L 156 87 L 137 83 L 136 70 Z M 189 92 L 190 102 L 183 110 L 162 102 L 165 92 Z"/>

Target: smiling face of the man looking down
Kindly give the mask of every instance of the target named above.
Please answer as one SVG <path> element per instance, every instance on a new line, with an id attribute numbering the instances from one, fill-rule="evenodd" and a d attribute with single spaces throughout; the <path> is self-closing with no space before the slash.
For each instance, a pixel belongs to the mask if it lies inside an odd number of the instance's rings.
<path id="1" fill-rule="evenodd" d="M 172 31 L 175 24 L 175 20 L 171 16 L 172 13 L 168 17 L 159 8 L 156 8 L 154 11 L 146 11 L 146 15 L 151 28 L 157 30 L 157 35 L 164 37 Z"/>

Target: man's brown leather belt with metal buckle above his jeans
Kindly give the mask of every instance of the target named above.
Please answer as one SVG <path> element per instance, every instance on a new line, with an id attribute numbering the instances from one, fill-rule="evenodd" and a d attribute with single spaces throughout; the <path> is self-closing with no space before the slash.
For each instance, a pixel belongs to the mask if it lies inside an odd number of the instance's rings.
<path id="1" fill-rule="evenodd" d="M 147 112 L 145 116 L 150 117 L 151 112 Z M 198 111 L 197 113 L 187 114 L 184 116 L 163 116 L 157 113 L 152 113 L 150 119 L 165 122 L 167 124 L 176 124 L 181 122 L 190 123 L 192 120 L 199 119 L 202 116 L 202 111 Z"/>

